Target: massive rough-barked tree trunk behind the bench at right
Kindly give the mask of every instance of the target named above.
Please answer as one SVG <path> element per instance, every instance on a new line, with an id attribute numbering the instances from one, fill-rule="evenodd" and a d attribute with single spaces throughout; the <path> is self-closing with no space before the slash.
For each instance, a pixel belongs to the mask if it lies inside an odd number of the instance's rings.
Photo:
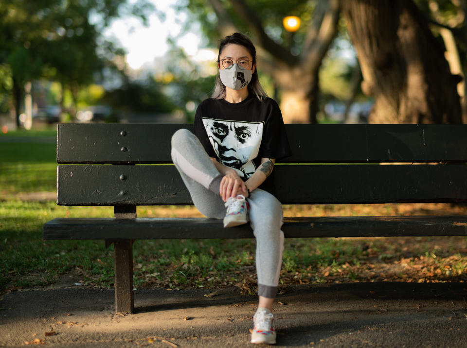
<path id="1" fill-rule="evenodd" d="M 375 99 L 371 123 L 462 123 L 444 48 L 412 0 L 341 1 L 362 70 Z"/>

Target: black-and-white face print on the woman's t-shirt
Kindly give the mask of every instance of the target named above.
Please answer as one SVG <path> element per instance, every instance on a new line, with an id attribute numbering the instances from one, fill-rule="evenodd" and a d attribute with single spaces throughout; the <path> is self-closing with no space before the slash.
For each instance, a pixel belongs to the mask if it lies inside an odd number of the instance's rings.
<path id="1" fill-rule="evenodd" d="M 236 169 L 240 177 L 249 178 L 256 169 L 252 161 L 258 156 L 264 123 L 202 120 L 219 162 Z"/>

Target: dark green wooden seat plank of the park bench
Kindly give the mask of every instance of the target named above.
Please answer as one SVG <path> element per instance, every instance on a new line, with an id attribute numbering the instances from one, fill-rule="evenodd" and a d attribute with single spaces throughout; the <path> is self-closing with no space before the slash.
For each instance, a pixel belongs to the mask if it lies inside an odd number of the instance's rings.
<path id="1" fill-rule="evenodd" d="M 467 216 L 286 217 L 286 237 L 467 235 Z M 44 239 L 253 238 L 249 225 L 224 229 L 207 218 L 55 218 Z"/>

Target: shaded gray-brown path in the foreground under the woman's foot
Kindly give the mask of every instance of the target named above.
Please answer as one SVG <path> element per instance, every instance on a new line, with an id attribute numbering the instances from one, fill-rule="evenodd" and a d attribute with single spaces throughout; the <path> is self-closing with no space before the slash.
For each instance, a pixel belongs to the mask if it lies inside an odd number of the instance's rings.
<path id="1" fill-rule="evenodd" d="M 467 347 L 466 286 L 294 286 L 275 304 L 277 346 Z M 0 346 L 252 347 L 255 297 L 240 295 L 236 288 L 204 296 L 213 291 L 137 290 L 133 315 L 114 314 L 112 290 L 11 292 L 0 300 Z"/>

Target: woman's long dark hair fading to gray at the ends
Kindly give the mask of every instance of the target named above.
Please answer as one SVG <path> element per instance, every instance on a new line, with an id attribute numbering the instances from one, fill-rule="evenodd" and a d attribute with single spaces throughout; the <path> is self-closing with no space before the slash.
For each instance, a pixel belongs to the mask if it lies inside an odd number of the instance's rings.
<path id="1" fill-rule="evenodd" d="M 233 33 L 232 35 L 226 36 L 222 39 L 219 45 L 219 54 L 217 55 L 217 64 L 220 64 L 220 53 L 224 49 L 226 45 L 229 44 L 236 44 L 245 47 L 251 54 L 253 58 L 253 63 L 251 66 L 256 64 L 256 49 L 254 48 L 253 43 L 251 42 L 250 38 L 242 33 Z M 258 69 L 254 69 L 254 73 L 251 76 L 251 81 L 248 84 L 248 91 L 254 94 L 259 100 L 263 100 L 268 97 L 266 92 L 264 91 L 261 83 L 259 83 L 258 78 Z M 214 99 L 224 99 L 225 98 L 225 86 L 220 81 L 219 73 L 216 76 L 216 83 L 214 85 L 214 92 L 211 96 Z"/>

